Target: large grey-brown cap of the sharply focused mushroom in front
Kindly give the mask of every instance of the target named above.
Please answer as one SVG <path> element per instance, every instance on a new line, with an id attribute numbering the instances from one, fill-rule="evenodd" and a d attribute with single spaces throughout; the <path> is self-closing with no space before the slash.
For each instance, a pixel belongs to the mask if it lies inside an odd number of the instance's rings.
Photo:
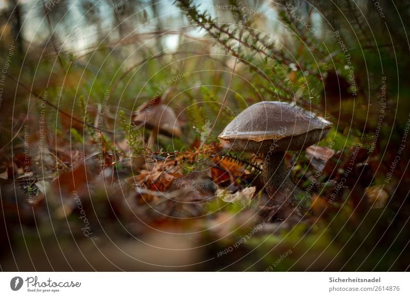
<path id="1" fill-rule="evenodd" d="M 239 151 L 300 150 L 318 143 L 331 127 L 331 122 L 303 108 L 262 101 L 239 113 L 218 138 L 225 147 Z"/>

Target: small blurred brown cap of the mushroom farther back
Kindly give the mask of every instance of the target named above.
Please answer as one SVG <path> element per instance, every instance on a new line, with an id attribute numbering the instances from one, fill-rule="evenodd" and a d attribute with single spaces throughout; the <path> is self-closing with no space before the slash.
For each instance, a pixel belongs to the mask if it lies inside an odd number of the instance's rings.
<path id="1" fill-rule="evenodd" d="M 133 122 L 135 125 L 145 126 L 146 129 L 158 129 L 160 134 L 166 136 L 181 136 L 181 128 L 178 124 L 175 112 L 165 104 L 154 105 L 151 108 L 138 112 Z"/>

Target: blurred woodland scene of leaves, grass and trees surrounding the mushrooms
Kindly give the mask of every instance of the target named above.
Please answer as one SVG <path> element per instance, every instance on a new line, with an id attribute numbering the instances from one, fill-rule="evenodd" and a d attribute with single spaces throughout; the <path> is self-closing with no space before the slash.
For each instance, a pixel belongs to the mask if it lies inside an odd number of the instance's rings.
<path id="1" fill-rule="evenodd" d="M 1 270 L 408 270 L 409 9 L 0 0 Z M 260 101 L 334 123 L 286 153 L 298 222 L 221 154 Z M 171 132 L 136 120 L 162 105 Z"/>

